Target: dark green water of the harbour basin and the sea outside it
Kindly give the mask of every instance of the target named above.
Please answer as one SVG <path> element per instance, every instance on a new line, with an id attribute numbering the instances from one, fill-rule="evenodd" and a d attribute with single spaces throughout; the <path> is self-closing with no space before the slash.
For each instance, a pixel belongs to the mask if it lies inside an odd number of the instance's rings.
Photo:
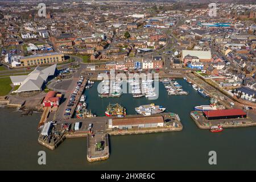
<path id="1" fill-rule="evenodd" d="M 195 105 L 209 104 L 183 80 L 178 80 L 188 96 L 168 96 L 160 85 L 158 100 L 133 98 L 98 98 L 97 86 L 87 90 L 88 108 L 104 115 L 106 106 L 119 103 L 128 114 L 134 107 L 155 104 L 179 114 L 183 131 L 110 137 L 111 154 L 104 162 L 86 161 L 86 138 L 66 139 L 51 151 L 38 144 L 36 127 L 40 113 L 20 117 L 20 112 L 0 109 L 0 169 L 81 169 L 81 170 L 174 170 L 174 169 L 256 169 L 256 127 L 225 129 L 222 133 L 200 130 L 189 117 Z M 38 151 L 47 154 L 47 165 L 38 165 Z M 217 165 L 208 164 L 208 152 L 217 152 Z"/>

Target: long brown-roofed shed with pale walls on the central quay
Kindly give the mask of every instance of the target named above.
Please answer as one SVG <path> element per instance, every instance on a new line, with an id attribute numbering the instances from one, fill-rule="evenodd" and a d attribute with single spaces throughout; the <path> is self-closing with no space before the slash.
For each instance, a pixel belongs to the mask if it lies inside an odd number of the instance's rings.
<path id="1" fill-rule="evenodd" d="M 162 116 L 152 117 L 129 117 L 129 118 L 113 118 L 109 119 L 109 129 L 132 129 L 148 128 L 148 127 L 163 127 L 164 119 Z"/>

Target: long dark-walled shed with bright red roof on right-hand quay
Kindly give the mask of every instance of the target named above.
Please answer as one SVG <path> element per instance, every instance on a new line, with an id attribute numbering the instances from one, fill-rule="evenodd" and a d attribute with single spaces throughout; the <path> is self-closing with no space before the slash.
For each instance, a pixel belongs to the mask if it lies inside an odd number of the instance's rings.
<path id="1" fill-rule="evenodd" d="M 204 111 L 204 117 L 212 119 L 246 118 L 247 114 L 241 109 L 224 109 Z"/>

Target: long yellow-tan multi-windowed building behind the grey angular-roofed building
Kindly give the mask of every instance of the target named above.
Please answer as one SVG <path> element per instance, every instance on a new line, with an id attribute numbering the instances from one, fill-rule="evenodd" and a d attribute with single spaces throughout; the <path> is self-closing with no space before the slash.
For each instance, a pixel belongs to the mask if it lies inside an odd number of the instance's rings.
<path id="1" fill-rule="evenodd" d="M 42 64 L 56 64 L 64 61 L 64 54 L 59 52 L 43 53 L 31 56 L 20 57 L 20 65 L 23 67 L 42 65 Z"/>

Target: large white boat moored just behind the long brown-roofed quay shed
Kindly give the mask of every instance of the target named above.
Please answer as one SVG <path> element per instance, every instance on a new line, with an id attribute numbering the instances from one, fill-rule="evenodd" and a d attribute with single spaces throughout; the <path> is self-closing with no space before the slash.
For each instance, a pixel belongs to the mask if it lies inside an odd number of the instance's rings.
<path id="1" fill-rule="evenodd" d="M 139 107 L 135 107 L 135 111 L 138 114 L 145 114 L 145 113 L 151 113 L 151 114 L 157 114 L 162 113 L 166 108 L 163 106 L 155 105 L 155 104 L 148 104 L 148 105 L 141 105 Z"/>

